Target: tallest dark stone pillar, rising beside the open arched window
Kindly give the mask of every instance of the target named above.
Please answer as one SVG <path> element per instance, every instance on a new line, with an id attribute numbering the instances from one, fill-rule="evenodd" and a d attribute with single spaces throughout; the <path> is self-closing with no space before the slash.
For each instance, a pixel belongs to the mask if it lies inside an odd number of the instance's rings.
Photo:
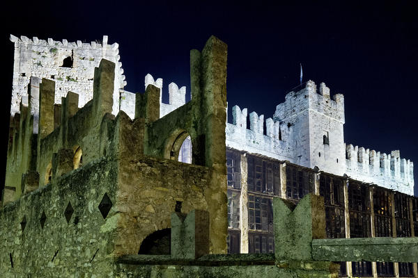
<path id="1" fill-rule="evenodd" d="M 228 208 L 226 195 L 226 56 L 224 42 L 211 36 L 199 53 L 190 51 L 190 84 L 194 113 L 199 115 L 198 130 L 192 131 L 193 159 L 198 165 L 210 167 L 210 183 L 206 198 L 210 202 L 211 252 L 226 254 Z M 196 134 L 193 134 L 196 132 Z M 195 144 L 196 143 L 196 144 Z"/>

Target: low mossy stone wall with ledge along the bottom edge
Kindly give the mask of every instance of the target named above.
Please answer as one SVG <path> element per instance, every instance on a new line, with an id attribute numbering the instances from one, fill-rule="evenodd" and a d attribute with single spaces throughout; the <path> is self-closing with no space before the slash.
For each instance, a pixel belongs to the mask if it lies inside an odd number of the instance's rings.
<path id="1" fill-rule="evenodd" d="M 274 254 L 236 254 L 203 256 L 195 261 L 178 261 L 169 256 L 137 256 L 121 259 L 116 269 L 118 277 L 286 277 L 336 278 L 330 263 L 279 263 Z M 147 263 L 148 262 L 148 263 Z"/>

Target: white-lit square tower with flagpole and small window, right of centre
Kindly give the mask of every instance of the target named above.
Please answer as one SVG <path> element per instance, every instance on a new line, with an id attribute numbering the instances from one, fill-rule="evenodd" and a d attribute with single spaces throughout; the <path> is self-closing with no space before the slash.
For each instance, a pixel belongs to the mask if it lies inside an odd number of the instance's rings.
<path id="1" fill-rule="evenodd" d="M 346 154 L 343 135 L 344 99 L 320 83 L 308 81 L 304 89 L 290 92 L 277 106 L 274 122 L 279 121 L 281 133 L 294 152 L 294 162 L 325 172 L 344 174 Z"/>

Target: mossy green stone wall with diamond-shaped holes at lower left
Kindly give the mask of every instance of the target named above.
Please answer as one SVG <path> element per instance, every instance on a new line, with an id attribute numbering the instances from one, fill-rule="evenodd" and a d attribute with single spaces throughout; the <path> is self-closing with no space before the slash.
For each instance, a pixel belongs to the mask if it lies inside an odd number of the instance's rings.
<path id="1" fill-rule="evenodd" d="M 102 158 L 4 206 L 0 277 L 114 277 L 116 213 L 99 206 L 105 194 L 115 203 L 116 170 Z"/>

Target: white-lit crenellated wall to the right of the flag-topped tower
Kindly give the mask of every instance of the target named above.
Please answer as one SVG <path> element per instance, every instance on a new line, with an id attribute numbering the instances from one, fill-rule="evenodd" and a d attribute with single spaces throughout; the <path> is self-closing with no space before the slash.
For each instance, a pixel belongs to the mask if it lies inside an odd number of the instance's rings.
<path id="1" fill-rule="evenodd" d="M 346 173 L 359 181 L 414 195 L 414 163 L 401 158 L 398 150 L 386 154 L 346 145 Z"/>

